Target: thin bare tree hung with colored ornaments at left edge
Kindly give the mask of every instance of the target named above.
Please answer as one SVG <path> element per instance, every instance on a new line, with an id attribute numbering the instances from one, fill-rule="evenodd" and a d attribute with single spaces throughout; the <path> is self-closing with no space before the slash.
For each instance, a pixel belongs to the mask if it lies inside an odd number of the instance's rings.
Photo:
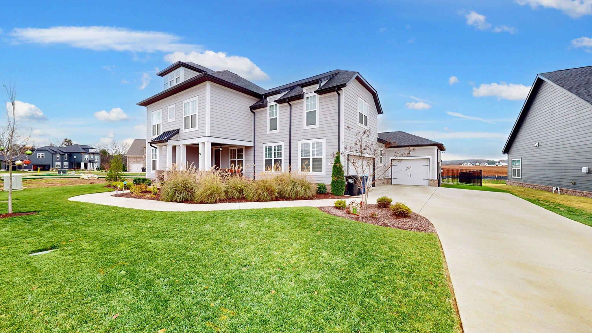
<path id="1" fill-rule="evenodd" d="M 8 95 L 7 123 L 0 132 L 0 155 L 8 167 L 8 213 L 12 214 L 12 165 L 30 148 L 31 127 L 23 129 L 17 120 L 17 87 L 14 83 L 2 84 Z"/>

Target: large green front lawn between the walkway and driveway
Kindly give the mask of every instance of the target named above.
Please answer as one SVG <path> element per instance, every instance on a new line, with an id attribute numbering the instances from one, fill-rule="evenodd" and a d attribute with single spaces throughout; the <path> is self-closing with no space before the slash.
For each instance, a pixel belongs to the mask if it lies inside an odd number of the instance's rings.
<path id="1" fill-rule="evenodd" d="M 16 212 L 39 214 L 0 219 L 0 332 L 459 331 L 434 234 L 310 207 L 163 213 L 66 200 L 104 190 L 14 194 Z"/>

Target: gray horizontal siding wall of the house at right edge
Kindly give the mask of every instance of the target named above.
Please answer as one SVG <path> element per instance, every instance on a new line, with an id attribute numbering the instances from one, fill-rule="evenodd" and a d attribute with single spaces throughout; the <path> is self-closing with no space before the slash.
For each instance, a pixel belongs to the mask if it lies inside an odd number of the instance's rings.
<path id="1" fill-rule="evenodd" d="M 592 105 L 543 81 L 510 146 L 508 179 L 592 191 L 592 174 L 581 172 L 592 168 L 591 135 Z M 512 159 L 522 159 L 522 178 L 511 177 Z"/>

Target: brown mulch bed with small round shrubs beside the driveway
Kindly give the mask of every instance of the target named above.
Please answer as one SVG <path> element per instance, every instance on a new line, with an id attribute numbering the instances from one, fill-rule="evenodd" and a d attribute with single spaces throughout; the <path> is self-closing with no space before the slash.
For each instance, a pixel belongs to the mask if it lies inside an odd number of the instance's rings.
<path id="1" fill-rule="evenodd" d="M 378 208 L 376 204 L 369 204 L 366 209 L 362 209 L 360 216 L 348 214 L 345 210 L 337 209 L 334 206 L 318 207 L 318 209 L 334 216 L 345 217 L 346 219 L 370 223 L 372 225 L 419 232 L 436 232 L 432 222 L 420 214 L 411 213 L 408 217 L 395 217 L 390 209 Z M 378 216 L 376 218 L 371 217 L 370 214 L 372 213 L 377 213 Z"/>

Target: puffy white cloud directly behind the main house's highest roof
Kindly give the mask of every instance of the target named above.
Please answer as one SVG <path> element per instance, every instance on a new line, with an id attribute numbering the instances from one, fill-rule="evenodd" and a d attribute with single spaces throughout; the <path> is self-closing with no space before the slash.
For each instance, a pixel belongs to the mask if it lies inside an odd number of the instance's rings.
<path id="1" fill-rule="evenodd" d="M 170 63 L 177 61 L 195 62 L 207 68 L 211 68 L 214 71 L 223 71 L 224 69 L 227 69 L 247 80 L 263 81 L 269 79 L 269 76 L 249 58 L 242 56 L 228 56 L 227 53 L 224 52 L 174 52 L 166 55 L 165 60 Z"/>

